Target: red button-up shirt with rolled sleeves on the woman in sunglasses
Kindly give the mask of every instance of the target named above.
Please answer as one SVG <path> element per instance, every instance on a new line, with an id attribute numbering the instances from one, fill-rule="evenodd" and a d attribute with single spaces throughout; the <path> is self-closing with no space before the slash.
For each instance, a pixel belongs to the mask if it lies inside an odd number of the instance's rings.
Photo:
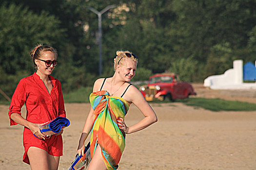
<path id="1" fill-rule="evenodd" d="M 58 79 L 52 76 L 49 78 L 53 84 L 50 94 L 36 73 L 20 80 L 9 107 L 10 125 L 17 124 L 11 119 L 11 114 L 21 114 L 24 103 L 27 110 L 26 119 L 32 123 L 44 123 L 57 117 L 66 117 L 61 84 Z"/>

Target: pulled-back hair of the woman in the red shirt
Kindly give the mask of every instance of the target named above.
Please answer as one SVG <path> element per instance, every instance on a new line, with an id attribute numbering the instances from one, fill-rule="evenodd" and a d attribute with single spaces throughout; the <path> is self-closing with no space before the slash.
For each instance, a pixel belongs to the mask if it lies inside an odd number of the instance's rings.
<path id="1" fill-rule="evenodd" d="M 30 51 L 30 56 L 33 59 L 34 67 L 36 69 L 38 68 L 38 66 L 35 63 L 35 59 L 40 59 L 43 55 L 43 52 L 45 51 L 51 51 L 52 53 L 54 53 L 56 59 L 58 57 L 58 51 L 55 48 L 47 45 L 38 44 L 33 50 Z"/>

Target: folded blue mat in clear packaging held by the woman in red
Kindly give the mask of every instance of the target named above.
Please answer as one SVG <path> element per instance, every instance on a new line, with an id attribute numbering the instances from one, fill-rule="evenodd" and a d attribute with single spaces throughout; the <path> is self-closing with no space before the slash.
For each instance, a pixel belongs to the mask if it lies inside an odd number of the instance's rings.
<path id="1" fill-rule="evenodd" d="M 41 133 L 45 136 L 51 136 L 55 133 L 59 133 L 61 129 L 68 127 L 70 121 L 67 118 L 58 117 L 39 126 Z M 36 136 L 37 137 L 37 136 Z"/>

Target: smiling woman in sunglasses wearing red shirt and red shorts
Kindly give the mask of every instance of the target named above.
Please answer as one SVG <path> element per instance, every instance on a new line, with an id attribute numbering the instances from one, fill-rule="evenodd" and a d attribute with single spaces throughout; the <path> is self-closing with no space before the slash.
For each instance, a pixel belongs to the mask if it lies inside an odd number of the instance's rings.
<path id="1" fill-rule="evenodd" d="M 66 117 L 61 84 L 50 76 L 57 66 L 57 51 L 50 46 L 38 45 L 30 52 L 36 72 L 20 80 L 9 107 L 10 125 L 24 126 L 23 162 L 31 170 L 58 170 L 62 155 L 62 132 L 50 137 L 44 136 L 39 125 Z M 26 104 L 26 119 L 21 116 L 21 107 Z M 36 137 L 36 136 L 38 137 Z"/>

